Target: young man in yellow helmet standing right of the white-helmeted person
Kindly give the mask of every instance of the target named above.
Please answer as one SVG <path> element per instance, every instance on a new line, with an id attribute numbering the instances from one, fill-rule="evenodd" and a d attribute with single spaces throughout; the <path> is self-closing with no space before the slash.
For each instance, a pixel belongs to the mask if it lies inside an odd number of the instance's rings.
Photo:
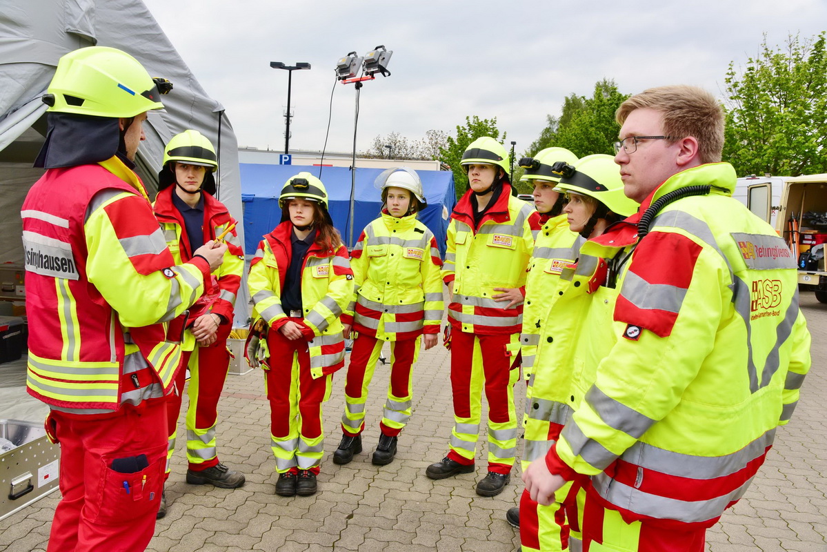
<path id="1" fill-rule="evenodd" d="M 428 466 L 432 479 L 474 471 L 482 391 L 488 399 L 488 473 L 476 492 L 494 497 L 510 480 L 517 450 L 514 383 L 519 379 L 519 332 L 525 270 L 539 215 L 512 195 L 509 156 L 491 137 L 471 142 L 462 156 L 470 190 L 451 215 L 443 280 L 451 294 L 451 449 Z"/>

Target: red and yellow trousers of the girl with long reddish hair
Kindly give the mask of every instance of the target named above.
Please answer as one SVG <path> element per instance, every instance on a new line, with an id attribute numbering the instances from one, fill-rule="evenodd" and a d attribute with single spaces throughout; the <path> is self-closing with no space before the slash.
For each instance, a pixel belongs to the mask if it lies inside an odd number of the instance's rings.
<path id="1" fill-rule="evenodd" d="M 322 404 L 330 398 L 332 374 L 313 379 L 308 342 L 267 332 L 270 369 L 265 391 L 270 401 L 270 439 L 278 473 L 319 472 L 324 454 Z"/>

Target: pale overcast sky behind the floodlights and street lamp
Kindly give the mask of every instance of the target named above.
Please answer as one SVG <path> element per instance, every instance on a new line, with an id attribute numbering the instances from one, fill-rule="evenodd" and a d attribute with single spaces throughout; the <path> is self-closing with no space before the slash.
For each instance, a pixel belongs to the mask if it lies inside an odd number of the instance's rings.
<path id="1" fill-rule="evenodd" d="M 592 2 L 341 2 L 144 0 L 174 47 L 227 109 L 239 146 L 284 149 L 287 71 L 294 71 L 290 148 L 321 150 L 338 58 L 385 45 L 390 77 L 361 90 L 357 150 L 377 135 L 453 133 L 467 115 L 533 142 L 546 115 L 600 79 L 633 94 L 696 84 L 724 98 L 730 61 L 743 65 L 789 34 L 827 28 L 824 0 Z M 327 151 L 351 151 L 353 84 L 336 84 Z M 519 154 L 518 154 L 519 155 Z"/>

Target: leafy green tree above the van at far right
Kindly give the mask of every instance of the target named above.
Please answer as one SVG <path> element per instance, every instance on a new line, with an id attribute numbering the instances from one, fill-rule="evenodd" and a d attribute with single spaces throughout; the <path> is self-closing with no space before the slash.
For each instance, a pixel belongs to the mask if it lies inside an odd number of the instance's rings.
<path id="1" fill-rule="evenodd" d="M 724 161 L 739 175 L 827 172 L 825 32 L 767 46 L 743 70 L 729 64 Z"/>

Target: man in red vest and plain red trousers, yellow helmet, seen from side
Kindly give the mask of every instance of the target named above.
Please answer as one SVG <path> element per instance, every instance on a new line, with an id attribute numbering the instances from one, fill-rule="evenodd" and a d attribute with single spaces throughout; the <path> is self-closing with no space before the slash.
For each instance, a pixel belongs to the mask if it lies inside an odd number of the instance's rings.
<path id="1" fill-rule="evenodd" d="M 168 82 L 158 81 L 169 85 Z M 103 46 L 60 58 L 43 100 L 45 174 L 23 204 L 29 393 L 50 406 L 61 499 L 48 550 L 144 550 L 179 367 L 167 321 L 189 309 L 227 247 L 175 264 L 134 172 L 157 82 Z"/>

